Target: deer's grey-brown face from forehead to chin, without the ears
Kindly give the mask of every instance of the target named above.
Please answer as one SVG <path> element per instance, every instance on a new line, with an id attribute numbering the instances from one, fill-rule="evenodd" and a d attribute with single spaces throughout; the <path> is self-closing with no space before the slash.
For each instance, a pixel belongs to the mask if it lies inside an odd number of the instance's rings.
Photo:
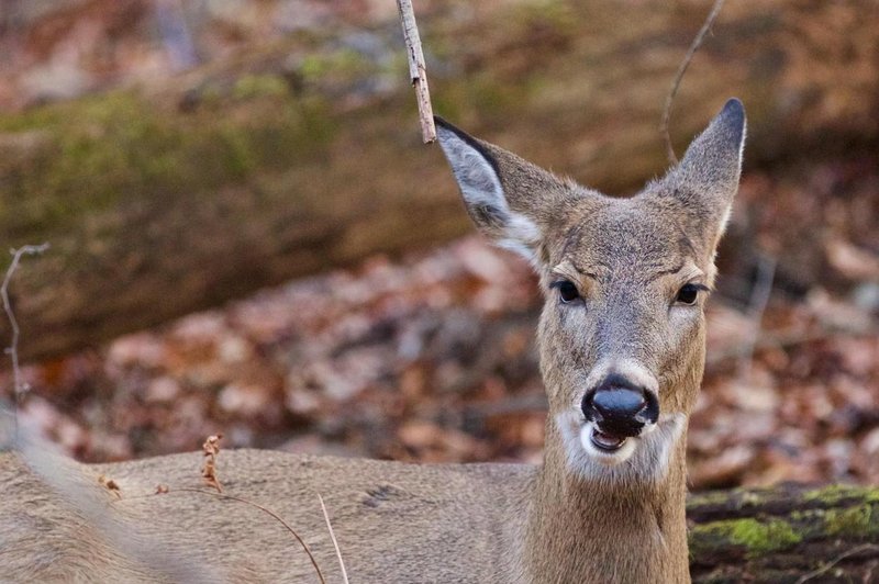
<path id="1" fill-rule="evenodd" d="M 702 377 L 713 250 L 658 190 L 597 201 L 550 236 L 538 339 L 571 449 L 617 464 L 657 429 L 657 448 L 681 435 Z"/>

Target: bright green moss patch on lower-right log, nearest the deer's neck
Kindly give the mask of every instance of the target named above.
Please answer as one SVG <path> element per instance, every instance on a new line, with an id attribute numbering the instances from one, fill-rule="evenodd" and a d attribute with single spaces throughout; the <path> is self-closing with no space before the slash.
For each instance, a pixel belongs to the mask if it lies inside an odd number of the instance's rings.
<path id="1" fill-rule="evenodd" d="M 710 553 L 733 544 L 744 548 L 747 558 L 755 558 L 790 548 L 800 541 L 802 536 L 781 519 L 724 519 L 696 526 L 690 531 L 693 554 Z"/>

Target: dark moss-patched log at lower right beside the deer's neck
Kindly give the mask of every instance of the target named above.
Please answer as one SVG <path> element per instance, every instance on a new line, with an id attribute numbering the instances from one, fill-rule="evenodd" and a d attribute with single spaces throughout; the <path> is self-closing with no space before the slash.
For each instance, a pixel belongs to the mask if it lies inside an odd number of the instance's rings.
<path id="1" fill-rule="evenodd" d="M 879 488 L 781 485 L 692 495 L 696 583 L 879 581 Z"/>

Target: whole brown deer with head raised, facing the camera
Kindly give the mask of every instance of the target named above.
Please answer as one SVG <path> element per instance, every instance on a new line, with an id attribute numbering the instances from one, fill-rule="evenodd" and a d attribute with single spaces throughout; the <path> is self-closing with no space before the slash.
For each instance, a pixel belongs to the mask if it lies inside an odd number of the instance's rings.
<path id="1" fill-rule="evenodd" d="M 293 526 L 330 582 L 342 568 L 316 494 L 352 582 L 689 582 L 687 425 L 738 189 L 743 104 L 728 100 L 679 164 L 630 198 L 436 123 L 478 229 L 537 272 L 543 463 L 242 449 L 218 461 L 224 492 Z M 316 581 L 276 519 L 191 492 L 198 454 L 88 465 L 24 442 L 0 454 L 0 580 Z M 158 483 L 170 492 L 154 494 Z"/>

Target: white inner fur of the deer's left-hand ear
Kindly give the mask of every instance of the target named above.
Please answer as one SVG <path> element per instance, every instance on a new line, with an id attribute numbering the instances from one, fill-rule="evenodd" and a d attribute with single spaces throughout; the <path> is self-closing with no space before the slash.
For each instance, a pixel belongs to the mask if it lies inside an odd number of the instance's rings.
<path id="1" fill-rule="evenodd" d="M 535 247 L 541 239 L 541 229 L 531 218 L 510 209 L 503 193 L 501 180 L 491 162 L 457 134 L 437 128 L 439 145 L 452 166 L 460 187 L 464 201 L 472 207 L 492 207 L 502 218 L 502 233 L 496 244 L 536 261 Z"/>

